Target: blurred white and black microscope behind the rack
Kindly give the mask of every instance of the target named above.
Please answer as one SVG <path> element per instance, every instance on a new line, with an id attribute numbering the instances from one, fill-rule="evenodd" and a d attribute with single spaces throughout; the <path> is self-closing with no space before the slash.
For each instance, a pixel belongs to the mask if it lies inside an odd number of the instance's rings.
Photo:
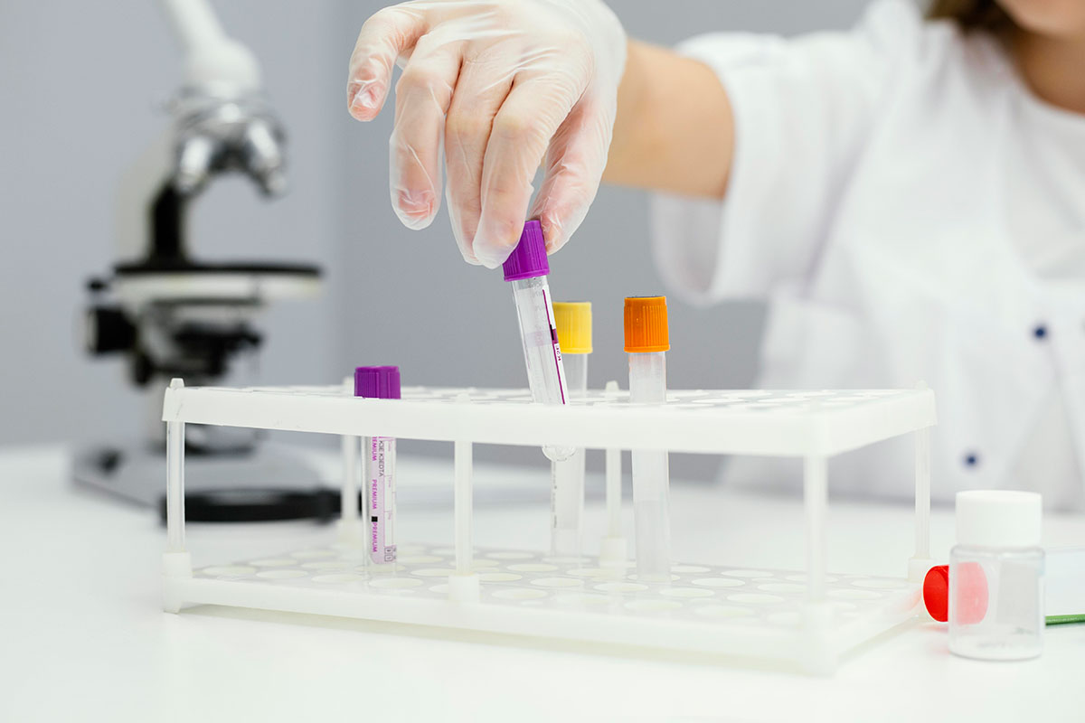
<path id="1" fill-rule="evenodd" d="M 311 264 L 210 263 L 193 255 L 186 221 L 217 178 L 240 172 L 268 198 L 285 191 L 285 135 L 255 57 L 225 34 L 207 0 L 163 5 L 186 52 L 184 82 L 170 104 L 171 127 L 122 181 L 120 261 L 88 283 L 85 324 L 89 353 L 127 360 L 146 398 L 146 434 L 84 451 L 75 463 L 78 482 L 151 505 L 165 492 L 161 414 L 169 379 L 237 384 L 260 349 L 254 322 L 261 309 L 320 288 Z M 322 498 L 307 494 L 327 475 L 310 455 L 247 429 L 190 425 L 186 440 L 190 519 L 320 516 Z"/>

